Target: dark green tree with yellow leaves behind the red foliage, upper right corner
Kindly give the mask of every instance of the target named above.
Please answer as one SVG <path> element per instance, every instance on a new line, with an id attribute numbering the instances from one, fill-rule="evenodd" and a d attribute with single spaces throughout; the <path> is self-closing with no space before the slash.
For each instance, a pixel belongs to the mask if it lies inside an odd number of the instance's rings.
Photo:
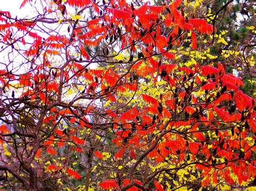
<path id="1" fill-rule="evenodd" d="M 188 11 L 217 27 L 210 37 L 214 62 L 225 62 L 226 70 L 242 77 L 244 92 L 255 95 L 254 41 L 255 10 L 252 1 L 211 1 L 197 4 L 198 11 Z M 203 16 L 202 16 L 203 15 Z"/>

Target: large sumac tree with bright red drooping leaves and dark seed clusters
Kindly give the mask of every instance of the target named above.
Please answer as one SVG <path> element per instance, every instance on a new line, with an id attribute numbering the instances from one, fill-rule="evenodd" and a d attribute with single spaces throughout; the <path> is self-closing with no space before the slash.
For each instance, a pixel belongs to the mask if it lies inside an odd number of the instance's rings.
<path id="1" fill-rule="evenodd" d="M 211 61 L 206 39 L 217 29 L 186 13 L 197 3 L 1 11 L 2 187 L 254 186 L 255 100 Z"/>

